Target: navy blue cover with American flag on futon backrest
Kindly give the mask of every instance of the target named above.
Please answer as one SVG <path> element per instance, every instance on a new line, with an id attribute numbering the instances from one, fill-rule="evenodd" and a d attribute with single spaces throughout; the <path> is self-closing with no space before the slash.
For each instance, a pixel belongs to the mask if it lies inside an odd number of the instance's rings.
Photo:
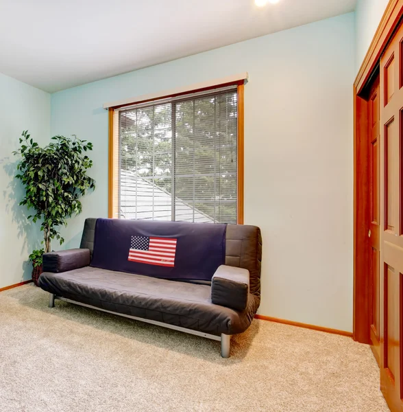
<path id="1" fill-rule="evenodd" d="M 210 281 L 225 262 L 226 225 L 101 219 L 90 266 L 164 279 Z"/>

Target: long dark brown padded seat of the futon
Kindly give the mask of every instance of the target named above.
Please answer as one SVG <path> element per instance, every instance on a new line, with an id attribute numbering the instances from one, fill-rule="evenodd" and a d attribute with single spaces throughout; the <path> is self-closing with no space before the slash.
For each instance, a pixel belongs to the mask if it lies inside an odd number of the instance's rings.
<path id="1" fill-rule="evenodd" d="M 208 285 L 91 266 L 64 273 L 42 273 L 39 285 L 56 296 L 82 304 L 215 335 L 244 332 L 259 306 L 258 298 L 252 294 L 247 308 L 239 311 L 213 304 Z"/>

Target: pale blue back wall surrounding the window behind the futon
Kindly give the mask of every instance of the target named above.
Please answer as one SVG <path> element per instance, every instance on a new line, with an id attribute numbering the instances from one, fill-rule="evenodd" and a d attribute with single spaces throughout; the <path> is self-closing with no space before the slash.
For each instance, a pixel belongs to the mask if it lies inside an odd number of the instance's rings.
<path id="1" fill-rule="evenodd" d="M 260 313 L 351 331 L 354 42 L 350 13 L 51 95 L 51 134 L 95 148 L 97 189 L 65 247 L 86 217 L 108 213 L 103 103 L 248 71 L 245 223 L 262 229 Z"/>

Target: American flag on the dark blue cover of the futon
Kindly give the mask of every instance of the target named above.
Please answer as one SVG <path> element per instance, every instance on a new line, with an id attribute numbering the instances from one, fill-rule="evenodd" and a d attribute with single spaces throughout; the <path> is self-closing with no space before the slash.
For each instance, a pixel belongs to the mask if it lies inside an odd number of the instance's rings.
<path id="1" fill-rule="evenodd" d="M 176 239 L 132 236 L 130 242 L 130 262 L 175 266 Z"/>

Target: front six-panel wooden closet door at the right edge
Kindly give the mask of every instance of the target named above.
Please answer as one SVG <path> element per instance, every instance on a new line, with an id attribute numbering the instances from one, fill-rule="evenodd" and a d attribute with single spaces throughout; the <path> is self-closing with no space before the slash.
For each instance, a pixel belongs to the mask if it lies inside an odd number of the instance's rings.
<path id="1" fill-rule="evenodd" d="M 380 59 L 380 385 L 391 411 L 403 411 L 403 27 Z"/>

